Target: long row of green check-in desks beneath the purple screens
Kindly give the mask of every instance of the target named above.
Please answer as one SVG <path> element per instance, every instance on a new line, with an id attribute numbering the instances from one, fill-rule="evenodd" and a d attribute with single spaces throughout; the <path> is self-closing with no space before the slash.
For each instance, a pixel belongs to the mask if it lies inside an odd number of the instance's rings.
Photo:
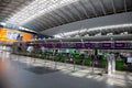
<path id="1" fill-rule="evenodd" d="M 31 56 L 31 57 L 36 57 L 36 58 L 41 58 L 41 59 L 48 59 L 48 61 L 53 61 L 53 62 L 61 62 L 61 63 L 70 63 L 75 65 L 82 65 L 82 66 L 94 66 L 94 67 L 101 67 L 101 68 L 106 68 L 107 65 L 107 57 L 106 54 L 103 55 L 97 55 L 95 56 L 95 59 L 91 59 L 90 55 L 85 55 L 85 54 L 77 54 L 77 53 L 36 53 L 36 52 L 32 52 L 32 53 L 28 53 L 28 52 L 15 52 L 14 54 L 19 54 L 19 55 L 25 55 L 25 56 Z M 119 70 L 128 70 L 128 72 L 132 72 L 132 66 L 131 64 L 127 64 L 125 63 L 125 58 L 121 57 L 120 59 L 117 58 L 116 59 L 116 68 Z M 75 69 L 75 67 L 74 67 Z"/>

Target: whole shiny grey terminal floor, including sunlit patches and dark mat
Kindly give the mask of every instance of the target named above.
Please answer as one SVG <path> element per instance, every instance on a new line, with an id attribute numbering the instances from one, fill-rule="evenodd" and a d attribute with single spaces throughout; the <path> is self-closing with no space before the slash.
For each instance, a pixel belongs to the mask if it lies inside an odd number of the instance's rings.
<path id="1" fill-rule="evenodd" d="M 132 73 L 98 75 L 102 69 L 35 59 L 1 52 L 8 88 L 132 88 Z"/>

